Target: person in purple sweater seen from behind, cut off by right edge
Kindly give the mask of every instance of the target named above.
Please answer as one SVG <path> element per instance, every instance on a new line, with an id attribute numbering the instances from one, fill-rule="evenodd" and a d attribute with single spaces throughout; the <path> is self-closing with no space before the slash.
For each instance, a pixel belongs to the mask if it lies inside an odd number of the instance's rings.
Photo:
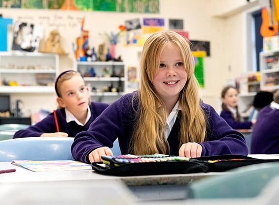
<path id="1" fill-rule="evenodd" d="M 251 154 L 279 154 L 279 90 L 273 99 L 258 114 L 252 132 Z"/>

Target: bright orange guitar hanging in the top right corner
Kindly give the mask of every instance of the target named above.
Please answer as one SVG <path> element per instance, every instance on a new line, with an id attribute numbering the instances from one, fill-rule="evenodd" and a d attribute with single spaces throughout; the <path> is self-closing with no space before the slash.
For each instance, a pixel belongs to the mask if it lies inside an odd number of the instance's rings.
<path id="1" fill-rule="evenodd" d="M 270 16 L 267 8 L 262 9 L 262 25 L 261 25 L 261 35 L 263 37 L 274 36 L 278 30 L 277 24 L 271 24 Z"/>

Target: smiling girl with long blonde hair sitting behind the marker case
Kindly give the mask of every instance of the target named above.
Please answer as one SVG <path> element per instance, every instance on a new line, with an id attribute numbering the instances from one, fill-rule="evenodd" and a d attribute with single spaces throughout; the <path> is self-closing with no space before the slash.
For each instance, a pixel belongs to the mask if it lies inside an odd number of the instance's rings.
<path id="1" fill-rule="evenodd" d="M 122 154 L 163 153 L 185 157 L 244 154 L 248 148 L 199 97 L 194 59 L 186 40 L 174 31 L 152 34 L 141 56 L 141 87 L 111 104 L 78 133 L 72 155 L 83 162 L 112 155 L 118 137 Z"/>

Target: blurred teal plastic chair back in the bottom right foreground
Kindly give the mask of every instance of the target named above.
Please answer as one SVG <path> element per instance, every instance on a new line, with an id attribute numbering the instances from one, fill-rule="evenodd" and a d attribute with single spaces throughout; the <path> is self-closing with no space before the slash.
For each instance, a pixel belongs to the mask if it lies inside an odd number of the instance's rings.
<path id="1" fill-rule="evenodd" d="M 279 163 L 269 162 L 234 169 L 222 176 L 194 181 L 186 190 L 188 199 L 252 198 L 279 176 Z"/>

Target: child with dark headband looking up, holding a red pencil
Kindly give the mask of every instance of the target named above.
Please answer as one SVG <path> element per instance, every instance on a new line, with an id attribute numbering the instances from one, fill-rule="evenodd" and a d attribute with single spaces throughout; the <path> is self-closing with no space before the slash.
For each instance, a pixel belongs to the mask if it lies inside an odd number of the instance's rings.
<path id="1" fill-rule="evenodd" d="M 55 81 L 57 109 L 40 122 L 27 129 L 19 130 L 14 138 L 21 137 L 74 137 L 87 130 L 91 122 L 108 106 L 90 102 L 89 88 L 80 73 L 67 70 Z"/>

